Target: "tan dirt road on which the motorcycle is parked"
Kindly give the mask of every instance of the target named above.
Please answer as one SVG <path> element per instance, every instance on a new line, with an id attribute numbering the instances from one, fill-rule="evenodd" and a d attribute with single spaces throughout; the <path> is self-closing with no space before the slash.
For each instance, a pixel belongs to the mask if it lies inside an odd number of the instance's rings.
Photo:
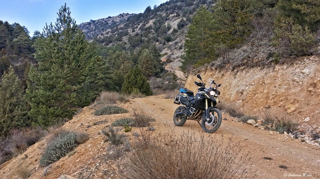
<path id="1" fill-rule="evenodd" d="M 153 126 L 156 131 L 176 134 L 193 130 L 197 137 L 203 134 L 201 127 L 195 121 L 187 121 L 182 127 L 175 127 L 172 114 L 178 105 L 163 96 L 151 96 L 133 100 L 136 104 L 145 105 L 156 111 L 153 116 L 156 120 Z M 251 125 L 235 122 L 235 118 L 222 114 L 220 128 L 213 134 L 204 134 L 205 137 L 221 137 L 226 139 L 233 136 L 235 142 L 240 142 L 242 152 L 249 152 L 252 158 L 252 171 L 262 179 L 285 178 L 320 178 L 320 147 L 301 143 L 299 140 L 287 138 L 284 135 L 270 135 L 269 131 L 260 130 Z M 233 119 L 233 121 L 231 121 Z M 271 158 L 265 160 L 263 157 Z M 285 166 L 282 169 L 279 166 Z"/>

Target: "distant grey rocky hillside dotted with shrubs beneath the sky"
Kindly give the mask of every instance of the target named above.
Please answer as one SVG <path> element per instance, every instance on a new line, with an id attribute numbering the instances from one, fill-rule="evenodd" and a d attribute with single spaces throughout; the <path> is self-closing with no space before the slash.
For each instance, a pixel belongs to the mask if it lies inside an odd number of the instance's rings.
<path id="1" fill-rule="evenodd" d="M 88 39 L 104 45 L 124 42 L 132 49 L 145 41 L 155 42 L 167 61 L 167 68 L 179 69 L 184 35 L 192 14 L 200 5 L 211 7 L 214 0 L 169 0 L 146 7 L 143 13 L 122 13 L 80 24 Z"/>

